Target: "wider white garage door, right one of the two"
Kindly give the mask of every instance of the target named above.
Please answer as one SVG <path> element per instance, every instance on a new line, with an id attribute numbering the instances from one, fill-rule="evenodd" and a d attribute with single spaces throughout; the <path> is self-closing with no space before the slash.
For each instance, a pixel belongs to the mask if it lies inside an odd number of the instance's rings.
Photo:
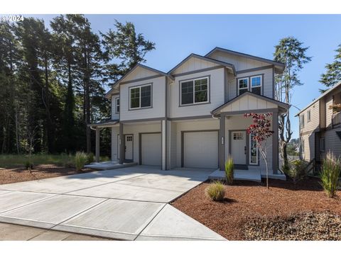
<path id="1" fill-rule="evenodd" d="M 184 132 L 183 166 L 218 168 L 218 132 Z"/>

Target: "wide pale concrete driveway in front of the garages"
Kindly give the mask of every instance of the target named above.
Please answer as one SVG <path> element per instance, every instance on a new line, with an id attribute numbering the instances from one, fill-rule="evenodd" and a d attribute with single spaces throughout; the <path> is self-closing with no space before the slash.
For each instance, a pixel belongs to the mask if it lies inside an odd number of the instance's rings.
<path id="1" fill-rule="evenodd" d="M 212 170 L 151 166 L 0 186 L 0 222 L 124 240 L 223 240 L 171 201 Z"/>

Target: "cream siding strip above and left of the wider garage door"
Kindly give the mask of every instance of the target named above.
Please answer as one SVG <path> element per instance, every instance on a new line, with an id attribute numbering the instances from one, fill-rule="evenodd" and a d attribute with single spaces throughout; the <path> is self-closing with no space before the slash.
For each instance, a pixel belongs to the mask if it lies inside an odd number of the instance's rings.
<path id="1" fill-rule="evenodd" d="M 175 127 L 174 127 L 175 126 Z M 176 135 L 173 140 L 176 139 L 173 145 L 171 145 L 172 155 L 176 155 L 176 165 L 175 167 L 181 167 L 181 132 L 182 131 L 201 131 L 201 130 L 219 130 L 220 123 L 219 120 L 209 119 L 209 120 L 197 120 L 197 121 L 180 121 L 173 123 L 173 133 Z M 175 162 L 172 162 L 174 164 Z"/>

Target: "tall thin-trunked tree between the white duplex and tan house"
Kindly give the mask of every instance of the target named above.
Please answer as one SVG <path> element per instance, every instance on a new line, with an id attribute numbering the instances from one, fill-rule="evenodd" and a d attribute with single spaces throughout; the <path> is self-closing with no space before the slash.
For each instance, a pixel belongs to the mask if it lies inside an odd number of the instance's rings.
<path id="1" fill-rule="evenodd" d="M 284 103 L 291 104 L 293 87 L 301 86 L 302 82 L 298 77 L 298 72 L 303 69 L 303 65 L 310 62 L 311 57 L 306 55 L 309 47 L 303 47 L 303 42 L 293 37 L 283 38 L 275 46 L 274 60 L 286 64 L 283 74 L 278 75 L 276 82 L 276 99 Z M 291 130 L 290 111 L 278 117 L 279 145 L 283 167 L 288 166 L 287 145 L 293 134 Z"/>

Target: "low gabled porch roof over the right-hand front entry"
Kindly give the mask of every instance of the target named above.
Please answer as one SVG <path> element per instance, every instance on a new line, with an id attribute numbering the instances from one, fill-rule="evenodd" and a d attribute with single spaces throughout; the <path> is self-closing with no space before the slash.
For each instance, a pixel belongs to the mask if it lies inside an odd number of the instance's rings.
<path id="1" fill-rule="evenodd" d="M 221 106 L 211 111 L 212 115 L 224 113 L 244 113 L 255 111 L 269 111 L 278 108 L 280 113 L 286 113 L 290 106 L 287 103 L 277 101 L 267 96 L 261 96 L 250 91 L 244 92 L 242 95 L 232 98 L 230 101 L 223 103 Z"/>

